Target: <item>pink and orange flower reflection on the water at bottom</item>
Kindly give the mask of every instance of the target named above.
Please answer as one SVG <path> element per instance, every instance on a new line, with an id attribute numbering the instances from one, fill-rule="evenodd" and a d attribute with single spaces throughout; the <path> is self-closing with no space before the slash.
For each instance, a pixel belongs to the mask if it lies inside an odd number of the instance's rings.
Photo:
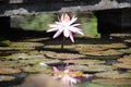
<path id="1" fill-rule="evenodd" d="M 59 71 L 56 66 L 52 66 L 55 72 L 55 78 L 60 78 L 62 87 L 75 87 L 75 84 L 80 82 L 76 77 L 91 77 L 92 74 L 83 74 L 82 72 L 73 72 L 71 70 Z"/>

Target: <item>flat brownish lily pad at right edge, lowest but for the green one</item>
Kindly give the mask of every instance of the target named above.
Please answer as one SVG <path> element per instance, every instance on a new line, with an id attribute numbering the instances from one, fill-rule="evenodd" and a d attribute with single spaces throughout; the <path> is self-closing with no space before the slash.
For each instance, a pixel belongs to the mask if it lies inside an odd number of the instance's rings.
<path id="1" fill-rule="evenodd" d="M 106 84 L 106 85 L 131 85 L 131 79 L 106 79 L 106 78 L 99 78 L 94 79 L 93 83 L 97 84 Z"/>

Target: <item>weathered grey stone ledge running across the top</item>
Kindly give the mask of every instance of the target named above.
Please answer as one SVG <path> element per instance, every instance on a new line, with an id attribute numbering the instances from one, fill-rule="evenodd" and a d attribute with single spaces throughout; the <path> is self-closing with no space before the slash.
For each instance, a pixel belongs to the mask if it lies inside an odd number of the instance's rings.
<path id="1" fill-rule="evenodd" d="M 9 0 L 13 1 L 13 0 Z M 15 0 L 23 1 L 23 0 Z M 26 1 L 26 0 L 25 0 Z M 31 0 L 29 0 L 31 1 Z M 36 0 L 35 0 L 36 1 Z M 44 1 L 44 0 L 38 0 Z M 37 14 L 40 12 L 73 12 L 73 11 L 99 11 L 108 9 L 131 8 L 131 0 L 60 0 L 50 3 L 13 3 L 0 4 L 0 16 Z M 47 0 L 46 0 L 47 1 Z M 58 1 L 58 0 L 57 0 Z"/>

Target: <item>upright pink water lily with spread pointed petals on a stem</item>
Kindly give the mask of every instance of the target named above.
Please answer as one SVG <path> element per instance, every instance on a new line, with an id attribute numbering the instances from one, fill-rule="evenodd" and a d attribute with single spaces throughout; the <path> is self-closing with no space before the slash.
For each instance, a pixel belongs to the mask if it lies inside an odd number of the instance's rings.
<path id="1" fill-rule="evenodd" d="M 48 29 L 47 33 L 57 30 L 57 33 L 53 35 L 53 38 L 57 38 L 60 34 L 63 33 L 64 37 L 67 38 L 70 37 L 71 41 L 74 42 L 72 33 L 84 35 L 82 33 L 82 29 L 76 27 L 80 24 L 74 24 L 76 20 L 78 17 L 75 16 L 70 18 L 68 14 L 62 14 L 61 17 L 59 18 L 59 22 L 49 25 L 50 29 Z"/>

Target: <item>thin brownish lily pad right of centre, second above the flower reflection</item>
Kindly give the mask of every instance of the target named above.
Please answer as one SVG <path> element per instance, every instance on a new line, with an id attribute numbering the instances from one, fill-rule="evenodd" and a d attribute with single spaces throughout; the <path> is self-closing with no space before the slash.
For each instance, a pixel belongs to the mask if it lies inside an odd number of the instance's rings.
<path id="1" fill-rule="evenodd" d="M 88 65 L 103 64 L 103 63 L 105 63 L 105 61 L 88 60 L 88 59 L 66 60 L 66 61 L 63 61 L 63 62 L 64 62 L 64 63 L 73 63 L 73 64 L 88 64 Z"/>

